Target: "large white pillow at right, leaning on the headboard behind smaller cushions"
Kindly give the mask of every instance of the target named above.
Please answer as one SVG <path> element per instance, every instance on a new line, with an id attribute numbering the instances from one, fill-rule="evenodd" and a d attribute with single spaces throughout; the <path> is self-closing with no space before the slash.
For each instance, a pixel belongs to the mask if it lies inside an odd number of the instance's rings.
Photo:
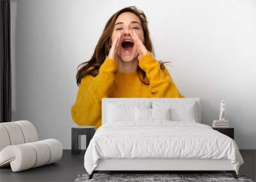
<path id="1" fill-rule="evenodd" d="M 154 109 L 170 108 L 172 121 L 199 122 L 196 102 L 152 102 Z"/>

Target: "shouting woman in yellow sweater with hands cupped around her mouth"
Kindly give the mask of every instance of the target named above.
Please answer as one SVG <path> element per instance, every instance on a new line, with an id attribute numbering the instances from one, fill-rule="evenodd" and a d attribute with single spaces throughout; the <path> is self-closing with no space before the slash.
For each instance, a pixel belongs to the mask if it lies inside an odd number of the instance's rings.
<path id="1" fill-rule="evenodd" d="M 184 98 L 153 55 L 143 11 L 130 6 L 112 15 L 92 58 L 79 64 L 74 122 L 99 128 L 102 98 Z"/>

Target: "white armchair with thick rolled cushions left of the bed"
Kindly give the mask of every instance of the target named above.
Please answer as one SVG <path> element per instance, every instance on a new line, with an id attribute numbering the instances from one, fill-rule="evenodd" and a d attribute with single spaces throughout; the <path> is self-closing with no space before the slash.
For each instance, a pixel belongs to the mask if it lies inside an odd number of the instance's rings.
<path id="1" fill-rule="evenodd" d="M 56 162 L 63 148 L 56 139 L 38 141 L 35 126 L 29 121 L 0 123 L 0 167 L 13 172 Z"/>

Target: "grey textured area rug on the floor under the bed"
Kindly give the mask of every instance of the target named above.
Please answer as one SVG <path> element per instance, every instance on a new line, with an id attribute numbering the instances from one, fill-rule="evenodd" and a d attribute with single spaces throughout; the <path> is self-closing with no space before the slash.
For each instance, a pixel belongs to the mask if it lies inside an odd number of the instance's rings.
<path id="1" fill-rule="evenodd" d="M 172 181 L 172 182 L 187 182 L 187 181 L 243 181 L 253 182 L 251 179 L 246 179 L 244 175 L 237 175 L 238 179 L 234 179 L 232 174 L 100 174 L 96 173 L 92 179 L 88 179 L 89 174 L 79 174 L 74 182 L 86 181 Z"/>

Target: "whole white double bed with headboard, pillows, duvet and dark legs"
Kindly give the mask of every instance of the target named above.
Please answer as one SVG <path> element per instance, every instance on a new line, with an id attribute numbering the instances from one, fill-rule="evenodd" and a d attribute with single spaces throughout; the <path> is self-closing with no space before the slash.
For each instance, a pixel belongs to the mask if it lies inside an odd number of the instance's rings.
<path id="1" fill-rule="evenodd" d="M 102 126 L 86 153 L 99 171 L 227 171 L 237 179 L 236 142 L 201 123 L 200 98 L 102 98 Z"/>

